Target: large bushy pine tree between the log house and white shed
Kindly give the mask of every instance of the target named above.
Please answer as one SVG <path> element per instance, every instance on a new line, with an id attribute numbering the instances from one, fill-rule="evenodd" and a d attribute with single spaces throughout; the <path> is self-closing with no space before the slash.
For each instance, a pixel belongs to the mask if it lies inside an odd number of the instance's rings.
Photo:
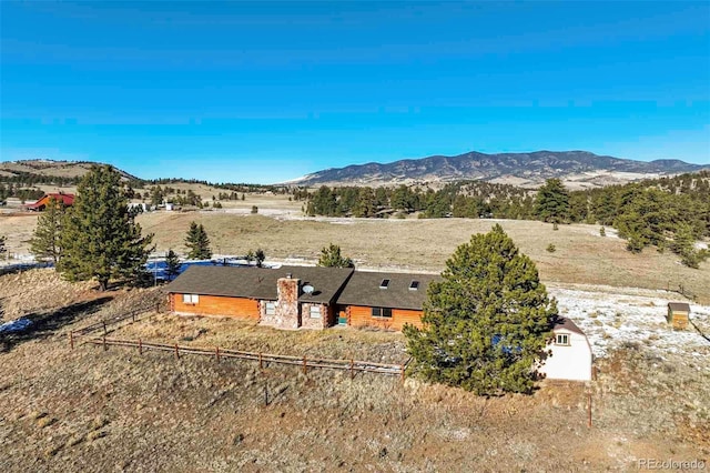
<path id="1" fill-rule="evenodd" d="M 557 314 L 535 263 L 496 224 L 458 246 L 442 275 L 424 328 L 404 329 L 410 371 L 481 395 L 530 392 Z"/>

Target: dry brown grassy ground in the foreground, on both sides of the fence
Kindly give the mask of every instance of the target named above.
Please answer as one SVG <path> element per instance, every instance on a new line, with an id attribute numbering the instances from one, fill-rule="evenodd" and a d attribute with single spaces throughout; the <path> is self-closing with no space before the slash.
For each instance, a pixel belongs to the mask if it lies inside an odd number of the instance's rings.
<path id="1" fill-rule="evenodd" d="M 32 289 L 42 281 L 59 295 Z M 98 293 L 51 270 L 0 278 L 6 315 L 42 322 L 0 335 L 1 471 L 571 472 L 710 460 L 707 370 L 687 353 L 660 358 L 643 344 L 610 350 L 589 385 L 546 382 L 534 395 L 493 399 L 397 376 L 70 350 L 69 331 L 161 296 Z M 397 360 L 404 343 L 388 332 L 275 331 L 166 314 L 110 335 L 381 361 Z"/>

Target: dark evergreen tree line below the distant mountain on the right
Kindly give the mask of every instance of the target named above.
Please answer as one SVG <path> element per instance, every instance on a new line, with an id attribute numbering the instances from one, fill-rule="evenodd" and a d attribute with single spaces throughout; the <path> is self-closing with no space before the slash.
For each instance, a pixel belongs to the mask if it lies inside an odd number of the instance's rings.
<path id="1" fill-rule="evenodd" d="M 305 199 L 308 215 L 494 218 L 590 223 L 615 228 L 627 250 L 670 250 L 690 268 L 708 259 L 694 241 L 710 236 L 710 172 L 645 180 L 599 189 L 569 191 L 559 179 L 549 179 L 537 192 L 489 182 L 457 182 L 443 189 L 322 185 L 313 193 L 295 190 Z"/>

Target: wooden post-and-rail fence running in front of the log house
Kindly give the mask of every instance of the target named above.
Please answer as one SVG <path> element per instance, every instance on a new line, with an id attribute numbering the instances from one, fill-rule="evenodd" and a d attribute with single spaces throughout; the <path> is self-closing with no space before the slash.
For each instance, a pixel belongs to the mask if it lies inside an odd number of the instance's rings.
<path id="1" fill-rule="evenodd" d="M 74 336 L 73 332 L 70 332 L 70 344 L 72 349 L 73 349 L 73 336 Z M 143 354 L 143 352 L 146 350 L 172 352 L 175 354 L 176 359 L 180 359 L 181 354 L 192 354 L 192 355 L 211 356 L 211 358 L 214 358 L 217 362 L 220 362 L 221 359 L 256 361 L 258 362 L 260 369 L 264 368 L 265 363 L 277 363 L 277 364 L 290 364 L 290 365 L 301 366 L 304 373 L 306 373 L 311 368 L 320 368 L 320 369 L 328 369 L 328 370 L 349 371 L 351 378 L 355 375 L 355 372 L 398 375 L 402 378 L 403 381 L 405 379 L 405 369 L 409 363 L 409 361 L 402 364 L 390 364 L 390 363 L 376 363 L 376 362 L 354 360 L 354 359 L 329 360 L 329 359 L 307 358 L 306 355 L 293 356 L 293 355 L 281 355 L 281 354 L 274 354 L 274 353 L 247 352 L 247 351 L 241 351 L 241 350 L 223 349 L 220 346 L 209 349 L 203 346 L 179 345 L 176 343 L 175 344 L 146 343 L 146 342 L 143 342 L 141 339 L 124 340 L 124 339 L 108 339 L 105 336 L 90 339 L 87 341 L 87 343 L 103 346 L 104 350 L 109 350 L 109 346 L 138 349 L 140 354 Z"/>

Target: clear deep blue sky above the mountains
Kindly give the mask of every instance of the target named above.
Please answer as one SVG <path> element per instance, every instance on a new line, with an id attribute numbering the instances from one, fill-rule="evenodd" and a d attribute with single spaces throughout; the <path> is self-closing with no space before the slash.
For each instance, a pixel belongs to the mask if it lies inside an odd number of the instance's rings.
<path id="1" fill-rule="evenodd" d="M 278 182 L 430 154 L 710 163 L 708 2 L 0 2 L 0 160 Z"/>

